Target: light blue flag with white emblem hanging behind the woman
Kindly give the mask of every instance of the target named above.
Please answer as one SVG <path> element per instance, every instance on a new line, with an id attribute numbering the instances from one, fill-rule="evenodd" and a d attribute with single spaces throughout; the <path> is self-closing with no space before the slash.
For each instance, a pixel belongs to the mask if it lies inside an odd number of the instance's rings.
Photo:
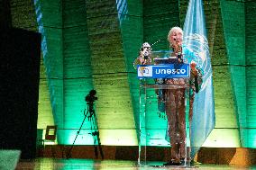
<path id="1" fill-rule="evenodd" d="M 206 22 L 202 0 L 189 1 L 183 30 L 187 48 L 196 53 L 198 67 L 204 71 L 203 85 L 195 96 L 191 125 L 191 157 L 195 157 L 215 127 L 213 72 L 208 40 L 206 39 Z"/>

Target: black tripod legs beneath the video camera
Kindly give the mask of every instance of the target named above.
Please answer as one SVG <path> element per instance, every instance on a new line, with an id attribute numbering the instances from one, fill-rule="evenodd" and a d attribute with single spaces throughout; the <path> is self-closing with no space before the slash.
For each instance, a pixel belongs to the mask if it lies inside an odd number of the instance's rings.
<path id="1" fill-rule="evenodd" d="M 99 138 L 99 131 L 98 131 L 97 120 L 96 120 L 96 112 L 94 110 L 93 104 L 94 104 L 93 102 L 87 103 L 87 109 L 84 110 L 84 115 L 85 115 L 84 120 L 82 121 L 82 124 L 78 130 L 78 133 L 76 135 L 76 138 L 73 141 L 71 148 L 67 152 L 67 155 L 66 155 L 67 158 L 71 157 L 71 151 L 76 143 L 76 140 L 77 140 L 78 135 L 83 127 L 84 122 L 88 118 L 88 121 L 90 121 L 90 130 L 91 130 L 91 133 L 88 133 L 88 134 L 91 134 L 94 138 L 95 157 L 98 158 L 98 150 L 99 150 L 101 158 L 104 159 L 104 153 L 101 148 L 101 143 L 100 143 L 100 138 Z M 86 110 L 87 110 L 87 113 L 86 113 Z"/>

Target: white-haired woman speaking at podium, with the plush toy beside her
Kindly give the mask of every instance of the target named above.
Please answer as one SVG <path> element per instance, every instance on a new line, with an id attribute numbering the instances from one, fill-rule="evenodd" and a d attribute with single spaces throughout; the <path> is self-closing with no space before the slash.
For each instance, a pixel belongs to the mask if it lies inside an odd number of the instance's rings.
<path id="1" fill-rule="evenodd" d="M 168 34 L 169 46 L 171 50 L 170 57 L 176 58 L 177 63 L 190 64 L 189 78 L 166 78 L 159 79 L 159 84 L 165 85 L 188 85 L 189 87 L 189 127 L 193 116 L 193 103 L 195 93 L 198 93 L 202 84 L 202 71 L 195 62 L 196 55 L 183 44 L 183 31 L 179 27 L 173 27 Z M 145 48 L 144 48 L 145 46 Z M 138 58 L 142 65 L 150 64 L 151 58 L 144 58 L 147 49 L 151 49 L 149 44 L 142 45 L 141 53 Z M 171 145 L 170 161 L 164 166 L 181 166 L 185 159 L 190 161 L 190 149 L 186 153 L 186 106 L 185 106 L 185 88 L 163 89 L 159 94 L 159 100 L 165 102 L 164 110 L 169 123 L 169 140 Z M 190 128 L 189 128 L 190 130 Z"/>

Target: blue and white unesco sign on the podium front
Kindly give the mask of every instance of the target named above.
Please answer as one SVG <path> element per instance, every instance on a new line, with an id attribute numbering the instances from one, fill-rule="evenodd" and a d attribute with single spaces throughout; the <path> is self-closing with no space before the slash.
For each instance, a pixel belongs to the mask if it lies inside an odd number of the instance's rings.
<path id="1" fill-rule="evenodd" d="M 186 78 L 190 76 L 188 64 L 139 65 L 138 78 Z"/>

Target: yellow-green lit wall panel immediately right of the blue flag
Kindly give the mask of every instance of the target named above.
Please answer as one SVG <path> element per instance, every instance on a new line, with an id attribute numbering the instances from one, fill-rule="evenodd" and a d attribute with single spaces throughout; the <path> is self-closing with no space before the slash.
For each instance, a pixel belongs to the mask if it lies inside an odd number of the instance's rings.
<path id="1" fill-rule="evenodd" d="M 210 1 L 208 1 L 210 2 Z M 238 86 L 234 83 L 235 78 L 243 77 L 242 72 L 240 76 L 234 76 L 233 69 L 240 68 L 234 67 L 229 58 L 229 40 L 225 37 L 230 37 L 224 32 L 225 21 L 223 9 L 230 10 L 229 14 L 233 13 L 230 8 L 223 8 L 220 2 L 207 4 L 206 16 L 207 16 L 207 30 L 208 39 L 211 46 L 212 64 L 213 64 L 213 75 L 214 75 L 214 88 L 215 88 L 215 129 L 206 140 L 205 147 L 226 147 L 226 148 L 238 148 L 241 147 L 238 129 L 238 115 L 237 107 L 241 108 L 242 95 L 244 99 L 244 93 L 238 93 L 236 89 L 243 87 L 244 85 Z M 212 14 L 211 14 L 212 13 Z M 231 23 L 231 21 L 227 22 Z M 230 29 L 230 28 L 229 28 Z M 231 33 L 231 31 L 229 31 Z M 239 35 L 241 36 L 241 35 Z M 240 49 L 242 51 L 242 48 Z M 241 52 L 242 53 L 242 52 Z M 239 55 L 238 55 L 239 56 Z M 242 57 L 240 57 L 242 58 Z M 236 80 L 237 81 L 237 80 Z M 245 81 L 243 81 L 245 83 Z M 235 94 L 240 94 L 241 98 L 236 98 Z M 240 105 L 236 102 L 240 99 Z M 225 138 L 223 138 L 225 137 Z"/>

